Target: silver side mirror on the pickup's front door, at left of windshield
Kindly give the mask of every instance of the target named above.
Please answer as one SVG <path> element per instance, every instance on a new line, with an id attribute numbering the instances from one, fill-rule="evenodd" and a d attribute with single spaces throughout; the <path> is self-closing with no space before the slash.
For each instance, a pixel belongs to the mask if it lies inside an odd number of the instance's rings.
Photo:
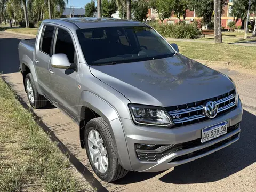
<path id="1" fill-rule="evenodd" d="M 58 69 L 71 69 L 71 63 L 68 60 L 68 57 L 66 54 L 53 54 L 50 59 L 50 64 L 54 68 Z"/>

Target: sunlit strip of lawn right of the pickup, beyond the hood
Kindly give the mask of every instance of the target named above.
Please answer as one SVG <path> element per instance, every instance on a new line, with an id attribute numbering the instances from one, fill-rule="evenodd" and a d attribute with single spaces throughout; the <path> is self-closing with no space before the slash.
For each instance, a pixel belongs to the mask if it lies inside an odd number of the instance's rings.
<path id="1" fill-rule="evenodd" d="M 180 53 L 189 58 L 207 61 L 227 61 L 232 65 L 256 69 L 255 47 L 178 41 L 175 43 L 179 46 Z"/>

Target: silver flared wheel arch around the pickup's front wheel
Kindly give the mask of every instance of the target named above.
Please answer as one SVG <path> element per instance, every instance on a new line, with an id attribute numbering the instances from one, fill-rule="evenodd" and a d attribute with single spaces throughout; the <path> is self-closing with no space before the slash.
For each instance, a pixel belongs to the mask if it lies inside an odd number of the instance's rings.
<path id="1" fill-rule="evenodd" d="M 88 120 L 88 117 L 85 118 L 85 115 L 90 114 L 91 117 L 102 117 L 109 126 L 109 132 L 114 142 L 119 163 L 122 167 L 124 167 L 124 169 L 132 170 L 130 157 L 128 155 L 129 153 L 127 149 L 125 133 L 123 130 L 121 119 L 116 109 L 113 106 L 111 106 L 108 102 L 98 97 L 98 95 L 95 95 L 90 91 L 83 91 L 81 93 L 81 103 L 79 107 L 79 135 L 81 147 L 85 147 L 83 141 L 85 140 L 84 131 L 85 125 L 87 123 L 86 121 L 90 121 Z"/>

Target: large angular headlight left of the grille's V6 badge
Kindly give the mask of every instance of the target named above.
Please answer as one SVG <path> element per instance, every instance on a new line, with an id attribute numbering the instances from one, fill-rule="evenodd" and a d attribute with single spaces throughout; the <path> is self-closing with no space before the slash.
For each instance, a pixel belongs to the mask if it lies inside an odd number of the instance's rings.
<path id="1" fill-rule="evenodd" d="M 171 118 L 161 107 L 130 104 L 133 121 L 143 125 L 171 126 Z"/>

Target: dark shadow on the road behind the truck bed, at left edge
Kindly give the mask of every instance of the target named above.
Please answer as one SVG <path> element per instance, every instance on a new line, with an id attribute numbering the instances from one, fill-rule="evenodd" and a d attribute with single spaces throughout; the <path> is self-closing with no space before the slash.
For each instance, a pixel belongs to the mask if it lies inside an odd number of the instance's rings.
<path id="1" fill-rule="evenodd" d="M 18 45 L 21 39 L 1 38 L 0 36 L 0 73 L 15 73 L 19 71 Z"/>

